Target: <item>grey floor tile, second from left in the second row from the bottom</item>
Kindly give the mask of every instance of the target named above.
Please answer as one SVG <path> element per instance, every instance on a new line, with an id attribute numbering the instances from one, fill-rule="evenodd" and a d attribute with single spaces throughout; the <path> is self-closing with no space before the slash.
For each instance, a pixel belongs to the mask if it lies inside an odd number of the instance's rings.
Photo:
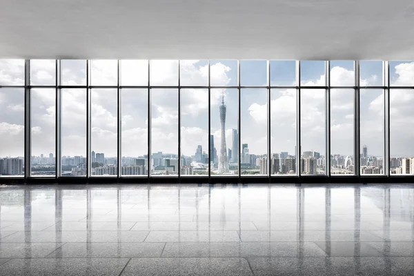
<path id="1" fill-rule="evenodd" d="M 48 255 L 51 258 L 161 257 L 165 244 L 157 243 L 67 243 Z"/>

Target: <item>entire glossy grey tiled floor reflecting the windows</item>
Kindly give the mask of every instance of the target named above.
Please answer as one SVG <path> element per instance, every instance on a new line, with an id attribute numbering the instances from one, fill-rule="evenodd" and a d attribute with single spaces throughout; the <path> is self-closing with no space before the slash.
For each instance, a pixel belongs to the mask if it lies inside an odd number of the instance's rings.
<path id="1" fill-rule="evenodd" d="M 0 186 L 0 275 L 414 275 L 413 185 Z"/>

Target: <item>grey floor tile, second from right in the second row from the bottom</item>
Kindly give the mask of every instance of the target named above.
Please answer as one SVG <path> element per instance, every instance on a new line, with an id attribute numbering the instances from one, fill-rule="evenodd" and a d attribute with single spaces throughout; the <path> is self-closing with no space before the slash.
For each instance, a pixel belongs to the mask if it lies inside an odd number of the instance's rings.
<path id="1" fill-rule="evenodd" d="M 364 242 L 315 242 L 329 257 L 384 257 Z"/>

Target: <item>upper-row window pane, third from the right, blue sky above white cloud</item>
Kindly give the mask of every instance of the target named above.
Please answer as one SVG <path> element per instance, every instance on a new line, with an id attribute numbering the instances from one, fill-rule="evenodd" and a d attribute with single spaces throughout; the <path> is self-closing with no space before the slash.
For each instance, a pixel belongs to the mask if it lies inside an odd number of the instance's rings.
<path id="1" fill-rule="evenodd" d="M 355 86 L 353 61 L 331 61 L 331 86 Z"/>

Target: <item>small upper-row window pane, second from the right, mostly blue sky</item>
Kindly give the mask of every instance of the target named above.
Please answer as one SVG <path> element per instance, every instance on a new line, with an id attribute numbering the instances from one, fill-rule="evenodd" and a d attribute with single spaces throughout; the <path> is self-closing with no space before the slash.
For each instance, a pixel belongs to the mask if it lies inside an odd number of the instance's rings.
<path id="1" fill-rule="evenodd" d="M 383 86 L 382 61 L 359 61 L 359 85 Z"/>

